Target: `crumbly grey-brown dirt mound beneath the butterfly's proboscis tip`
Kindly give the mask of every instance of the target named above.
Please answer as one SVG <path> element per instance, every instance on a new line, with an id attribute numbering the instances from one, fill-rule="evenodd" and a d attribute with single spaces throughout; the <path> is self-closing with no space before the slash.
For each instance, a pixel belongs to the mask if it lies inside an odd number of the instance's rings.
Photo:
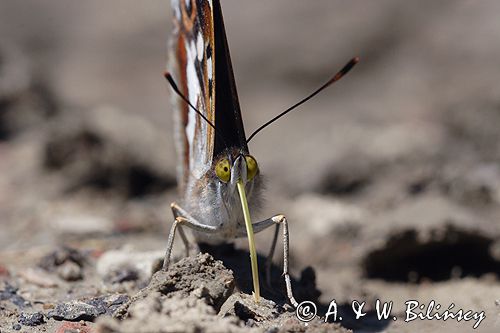
<path id="1" fill-rule="evenodd" d="M 209 254 L 187 257 L 168 271 L 155 273 L 150 284 L 115 313 L 97 320 L 100 333 L 115 332 L 348 332 L 320 321 L 305 326 L 293 311 L 273 301 L 233 293 L 234 278 Z"/>

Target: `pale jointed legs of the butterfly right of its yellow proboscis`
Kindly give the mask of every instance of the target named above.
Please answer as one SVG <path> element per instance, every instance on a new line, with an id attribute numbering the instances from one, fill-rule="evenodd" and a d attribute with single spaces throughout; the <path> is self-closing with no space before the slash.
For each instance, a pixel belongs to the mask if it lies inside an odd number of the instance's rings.
<path id="1" fill-rule="evenodd" d="M 289 236 L 288 236 L 288 221 L 285 215 L 275 215 L 267 220 L 260 221 L 253 224 L 253 229 L 255 233 L 258 233 L 264 229 L 269 228 L 272 225 L 276 225 L 276 229 L 274 232 L 273 242 L 271 244 L 271 250 L 269 251 L 269 255 L 266 261 L 266 274 L 268 283 L 270 284 L 271 279 L 271 264 L 274 255 L 274 250 L 276 249 L 276 242 L 278 240 L 279 228 L 280 225 L 283 225 L 283 276 L 285 277 L 285 285 L 286 285 L 286 293 L 290 303 L 296 308 L 299 304 L 293 297 L 292 292 L 292 282 L 290 279 L 290 274 L 288 273 L 288 245 L 289 245 Z"/>

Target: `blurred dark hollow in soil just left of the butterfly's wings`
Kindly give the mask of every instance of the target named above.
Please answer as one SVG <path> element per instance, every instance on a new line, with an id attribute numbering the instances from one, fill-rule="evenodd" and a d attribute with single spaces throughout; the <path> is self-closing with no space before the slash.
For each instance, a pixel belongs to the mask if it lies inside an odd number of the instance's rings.
<path id="1" fill-rule="evenodd" d="M 161 193 L 176 184 L 175 179 L 111 146 L 91 130 L 55 136 L 45 146 L 43 163 L 48 170 L 66 175 L 68 193 L 91 188 L 138 198 Z"/>

